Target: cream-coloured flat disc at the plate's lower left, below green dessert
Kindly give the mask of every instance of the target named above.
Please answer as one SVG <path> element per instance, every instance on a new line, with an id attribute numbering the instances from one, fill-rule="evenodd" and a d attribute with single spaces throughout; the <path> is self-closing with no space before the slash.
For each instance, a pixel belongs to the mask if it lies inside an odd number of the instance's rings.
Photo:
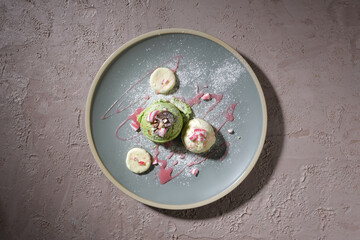
<path id="1" fill-rule="evenodd" d="M 131 149 L 126 156 L 126 166 L 134 173 L 146 172 L 151 165 L 150 154 L 142 148 Z"/>

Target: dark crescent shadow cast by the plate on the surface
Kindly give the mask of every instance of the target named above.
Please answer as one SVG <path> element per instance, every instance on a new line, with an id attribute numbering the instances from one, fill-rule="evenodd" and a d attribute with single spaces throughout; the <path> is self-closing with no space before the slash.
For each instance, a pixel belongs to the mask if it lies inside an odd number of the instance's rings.
<path id="1" fill-rule="evenodd" d="M 223 198 L 194 209 L 166 210 L 150 207 L 162 214 L 183 219 L 206 219 L 231 212 L 255 196 L 269 181 L 278 162 L 284 142 L 284 120 L 279 99 L 270 81 L 251 60 L 245 58 L 254 70 L 263 89 L 268 114 L 268 128 L 264 148 L 258 162 L 245 180 Z"/>

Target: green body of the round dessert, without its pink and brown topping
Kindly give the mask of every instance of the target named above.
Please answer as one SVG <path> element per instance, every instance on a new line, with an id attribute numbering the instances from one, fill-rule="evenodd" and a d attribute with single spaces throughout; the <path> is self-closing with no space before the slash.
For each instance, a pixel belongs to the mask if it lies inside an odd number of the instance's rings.
<path id="1" fill-rule="evenodd" d="M 172 125 L 166 128 L 166 133 L 164 137 L 160 137 L 157 134 L 154 134 L 152 123 L 147 122 L 146 117 L 152 111 L 159 110 L 160 112 L 162 112 L 164 111 L 164 109 L 166 109 L 173 115 L 174 120 L 172 122 Z M 156 143 L 165 143 L 176 138 L 180 134 L 183 126 L 183 117 L 179 109 L 164 99 L 154 101 L 152 104 L 150 104 L 147 108 L 144 109 L 144 111 L 142 111 L 137 116 L 137 120 L 140 123 L 142 134 L 149 140 Z"/>

